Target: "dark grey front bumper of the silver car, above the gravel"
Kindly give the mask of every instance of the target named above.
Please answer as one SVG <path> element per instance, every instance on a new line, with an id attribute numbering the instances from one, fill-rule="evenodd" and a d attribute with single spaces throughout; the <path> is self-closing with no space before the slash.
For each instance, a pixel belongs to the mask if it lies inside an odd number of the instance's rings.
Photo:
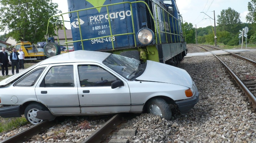
<path id="1" fill-rule="evenodd" d="M 198 101 L 199 101 L 199 92 L 197 91 L 197 87 L 196 87 L 196 93 L 194 97 L 186 100 L 176 101 L 175 103 L 178 106 L 181 114 L 186 114 L 195 106 L 195 104 L 197 104 Z"/>

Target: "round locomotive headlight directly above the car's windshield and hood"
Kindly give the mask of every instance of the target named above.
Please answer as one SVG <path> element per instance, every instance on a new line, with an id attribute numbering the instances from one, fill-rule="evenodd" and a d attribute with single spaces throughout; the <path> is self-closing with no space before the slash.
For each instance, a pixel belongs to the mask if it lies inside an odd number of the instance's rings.
<path id="1" fill-rule="evenodd" d="M 137 33 L 137 40 L 142 45 L 150 44 L 155 38 L 155 35 L 151 29 L 142 28 Z"/>

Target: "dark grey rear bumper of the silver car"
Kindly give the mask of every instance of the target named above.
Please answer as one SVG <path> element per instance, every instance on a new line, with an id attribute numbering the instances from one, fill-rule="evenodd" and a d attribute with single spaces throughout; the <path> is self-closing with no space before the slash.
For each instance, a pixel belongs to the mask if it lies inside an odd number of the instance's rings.
<path id="1" fill-rule="evenodd" d="M 21 117 L 20 105 L 0 108 L 2 118 Z"/>

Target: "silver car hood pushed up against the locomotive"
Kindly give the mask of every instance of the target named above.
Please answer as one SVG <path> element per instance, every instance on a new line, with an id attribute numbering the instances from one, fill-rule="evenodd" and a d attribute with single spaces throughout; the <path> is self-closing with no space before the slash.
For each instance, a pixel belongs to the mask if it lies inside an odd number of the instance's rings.
<path id="1" fill-rule="evenodd" d="M 147 67 L 144 73 L 136 79 L 178 84 L 186 87 L 192 87 L 193 84 L 193 80 L 186 70 L 149 60 L 147 61 Z"/>

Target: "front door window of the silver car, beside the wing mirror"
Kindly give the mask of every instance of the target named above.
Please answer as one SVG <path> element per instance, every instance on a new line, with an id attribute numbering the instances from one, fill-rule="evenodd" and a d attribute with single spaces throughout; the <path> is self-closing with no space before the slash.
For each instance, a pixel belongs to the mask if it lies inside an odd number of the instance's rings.
<path id="1" fill-rule="evenodd" d="M 97 65 L 78 65 L 81 87 L 111 86 L 111 83 L 120 80 L 107 70 Z"/>

